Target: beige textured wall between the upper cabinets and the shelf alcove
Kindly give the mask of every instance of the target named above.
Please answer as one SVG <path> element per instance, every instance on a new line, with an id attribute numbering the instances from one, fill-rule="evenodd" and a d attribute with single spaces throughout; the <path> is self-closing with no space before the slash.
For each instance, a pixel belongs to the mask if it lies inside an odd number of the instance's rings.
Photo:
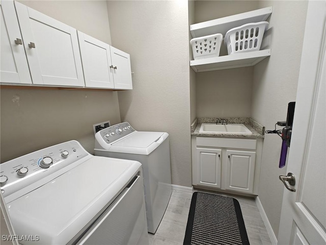
<path id="1" fill-rule="evenodd" d="M 112 44 L 131 57 L 121 119 L 170 134 L 172 183 L 191 186 L 187 1 L 108 1 Z"/>

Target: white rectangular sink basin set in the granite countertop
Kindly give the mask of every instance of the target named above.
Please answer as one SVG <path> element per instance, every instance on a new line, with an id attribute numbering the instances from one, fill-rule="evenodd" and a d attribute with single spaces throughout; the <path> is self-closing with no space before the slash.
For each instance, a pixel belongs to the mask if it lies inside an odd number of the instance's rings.
<path id="1" fill-rule="evenodd" d="M 243 124 L 202 124 L 199 133 L 252 134 Z"/>

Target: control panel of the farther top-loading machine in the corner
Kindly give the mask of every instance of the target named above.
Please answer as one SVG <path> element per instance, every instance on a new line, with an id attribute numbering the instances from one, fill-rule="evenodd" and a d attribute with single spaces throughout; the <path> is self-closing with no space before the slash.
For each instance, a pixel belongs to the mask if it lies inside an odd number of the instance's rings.
<path id="1" fill-rule="evenodd" d="M 107 144 L 120 139 L 135 130 L 130 126 L 128 122 L 121 122 L 121 124 L 116 124 L 108 128 L 98 131 L 96 134 L 101 136 L 101 139 Z M 97 138 L 97 136 L 95 135 Z"/>

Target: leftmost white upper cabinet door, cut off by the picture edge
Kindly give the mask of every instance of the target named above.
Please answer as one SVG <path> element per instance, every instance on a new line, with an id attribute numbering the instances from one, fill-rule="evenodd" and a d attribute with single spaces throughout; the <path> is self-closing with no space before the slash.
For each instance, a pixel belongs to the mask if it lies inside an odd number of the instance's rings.
<path id="1" fill-rule="evenodd" d="M 31 75 L 12 1 L 0 2 L 2 83 L 31 84 Z"/>

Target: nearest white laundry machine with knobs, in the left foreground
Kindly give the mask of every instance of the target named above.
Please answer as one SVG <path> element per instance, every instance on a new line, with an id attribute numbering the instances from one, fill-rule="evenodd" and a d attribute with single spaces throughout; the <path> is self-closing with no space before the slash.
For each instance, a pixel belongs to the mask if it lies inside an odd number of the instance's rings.
<path id="1" fill-rule="evenodd" d="M 20 244 L 149 243 L 139 162 L 93 156 L 72 140 L 0 167 L 1 192 L 15 231 L 8 239 Z"/>

